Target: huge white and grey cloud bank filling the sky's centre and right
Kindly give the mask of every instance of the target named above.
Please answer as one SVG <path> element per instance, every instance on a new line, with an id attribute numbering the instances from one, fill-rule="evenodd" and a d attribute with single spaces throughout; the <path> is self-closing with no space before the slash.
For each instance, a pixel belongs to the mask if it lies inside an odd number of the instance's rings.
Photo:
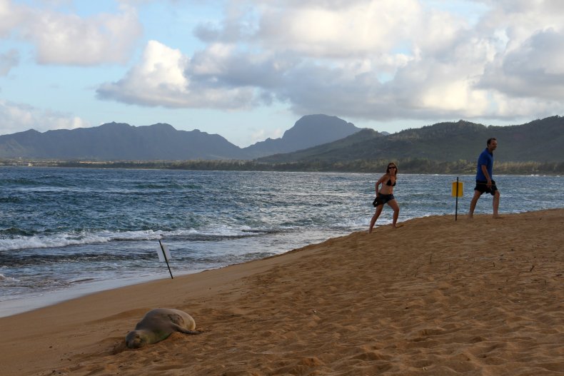
<path id="1" fill-rule="evenodd" d="M 371 120 L 562 113 L 564 3 L 475 2 L 466 16 L 441 1 L 228 1 L 223 19 L 196 27 L 201 51 L 150 42 L 98 93 L 143 106 L 278 101 Z"/>

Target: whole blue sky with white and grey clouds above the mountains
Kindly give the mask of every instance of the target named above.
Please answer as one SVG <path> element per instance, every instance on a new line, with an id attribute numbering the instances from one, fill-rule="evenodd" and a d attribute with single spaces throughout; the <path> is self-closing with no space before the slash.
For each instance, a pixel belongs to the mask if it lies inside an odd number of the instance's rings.
<path id="1" fill-rule="evenodd" d="M 0 0 L 0 135 L 514 125 L 564 113 L 563 61 L 560 0 Z"/>

